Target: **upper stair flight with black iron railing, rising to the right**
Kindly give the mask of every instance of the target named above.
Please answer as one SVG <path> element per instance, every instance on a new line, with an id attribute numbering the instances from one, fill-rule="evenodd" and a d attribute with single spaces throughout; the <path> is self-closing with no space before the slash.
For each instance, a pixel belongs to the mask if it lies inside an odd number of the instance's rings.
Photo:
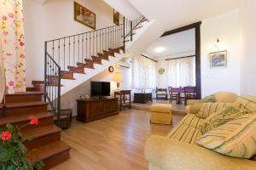
<path id="1" fill-rule="evenodd" d="M 143 16 L 132 21 L 124 18 L 119 26 L 45 42 L 44 81 L 33 81 L 34 89 L 44 89 L 44 101 L 58 117 L 61 95 L 123 59 L 127 42 L 132 42 L 147 23 Z"/>

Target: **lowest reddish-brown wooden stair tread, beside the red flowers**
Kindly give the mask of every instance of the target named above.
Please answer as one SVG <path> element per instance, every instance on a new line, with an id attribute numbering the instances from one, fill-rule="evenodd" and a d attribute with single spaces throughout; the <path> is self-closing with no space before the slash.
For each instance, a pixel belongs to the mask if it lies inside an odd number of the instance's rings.
<path id="1" fill-rule="evenodd" d="M 57 141 L 51 144 L 40 146 L 36 150 L 28 150 L 27 157 L 32 162 L 37 161 L 38 158 L 44 161 L 44 159 L 47 159 L 51 156 L 55 156 L 57 154 L 60 154 L 61 152 L 64 152 L 70 149 L 71 149 L 70 146 L 68 146 L 67 144 L 61 141 Z"/>

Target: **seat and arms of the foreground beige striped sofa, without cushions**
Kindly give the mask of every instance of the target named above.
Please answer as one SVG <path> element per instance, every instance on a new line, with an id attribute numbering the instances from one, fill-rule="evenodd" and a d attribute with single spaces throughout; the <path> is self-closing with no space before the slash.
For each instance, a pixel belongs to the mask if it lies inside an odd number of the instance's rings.
<path id="1" fill-rule="evenodd" d="M 188 115 L 166 136 L 151 136 L 145 146 L 149 170 L 255 170 L 256 161 L 224 156 L 196 144 L 201 136 L 195 114 L 198 105 L 189 106 Z"/>

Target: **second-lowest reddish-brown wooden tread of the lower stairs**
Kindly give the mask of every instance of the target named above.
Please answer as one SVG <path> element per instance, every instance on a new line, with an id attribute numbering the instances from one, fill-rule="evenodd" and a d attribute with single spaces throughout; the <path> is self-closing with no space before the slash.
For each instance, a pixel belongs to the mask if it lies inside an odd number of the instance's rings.
<path id="1" fill-rule="evenodd" d="M 60 133 L 60 132 L 61 132 L 61 128 L 56 127 L 54 124 L 52 124 L 44 127 L 28 129 L 21 133 L 25 139 L 27 139 L 28 137 L 33 137 L 34 139 L 36 139 L 50 133 Z"/>

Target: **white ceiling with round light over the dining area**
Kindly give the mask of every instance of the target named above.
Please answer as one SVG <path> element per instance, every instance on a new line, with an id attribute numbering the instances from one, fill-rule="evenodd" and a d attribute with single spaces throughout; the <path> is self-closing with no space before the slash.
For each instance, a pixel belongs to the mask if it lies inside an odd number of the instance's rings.
<path id="1" fill-rule="evenodd" d="M 165 48 L 162 53 L 155 52 L 156 48 Z M 179 54 L 195 54 L 195 29 L 178 32 L 166 37 L 160 37 L 153 42 L 143 54 L 152 59 L 172 58 Z"/>

